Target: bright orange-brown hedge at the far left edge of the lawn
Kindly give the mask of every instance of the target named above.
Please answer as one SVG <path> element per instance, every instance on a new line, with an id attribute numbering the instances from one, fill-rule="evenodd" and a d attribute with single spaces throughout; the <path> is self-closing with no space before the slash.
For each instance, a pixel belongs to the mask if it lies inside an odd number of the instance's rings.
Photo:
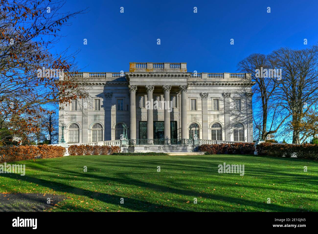
<path id="1" fill-rule="evenodd" d="M 65 148 L 55 145 L 19 145 L 0 148 L 0 162 L 20 161 L 35 158 L 57 158 L 65 154 Z"/>

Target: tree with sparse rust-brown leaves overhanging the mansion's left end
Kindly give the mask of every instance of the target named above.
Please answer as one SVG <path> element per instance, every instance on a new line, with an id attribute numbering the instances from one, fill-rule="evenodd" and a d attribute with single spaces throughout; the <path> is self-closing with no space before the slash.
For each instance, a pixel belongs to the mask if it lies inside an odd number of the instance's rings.
<path id="1" fill-rule="evenodd" d="M 5 142 L 13 136 L 38 131 L 46 103 L 69 102 L 87 96 L 86 84 L 68 76 L 74 55 L 51 53 L 62 26 L 83 11 L 60 12 L 64 1 L 0 0 L 0 129 Z M 63 79 L 59 79 L 59 77 Z M 29 118 L 29 116 L 33 116 Z"/>

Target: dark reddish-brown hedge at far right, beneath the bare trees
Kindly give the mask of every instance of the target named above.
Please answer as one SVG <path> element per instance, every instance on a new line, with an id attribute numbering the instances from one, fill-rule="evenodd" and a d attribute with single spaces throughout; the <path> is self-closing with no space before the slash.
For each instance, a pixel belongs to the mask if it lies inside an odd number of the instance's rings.
<path id="1" fill-rule="evenodd" d="M 293 154 L 300 159 L 318 159 L 318 145 L 271 144 L 261 143 L 256 146 L 258 155 L 290 158 Z"/>

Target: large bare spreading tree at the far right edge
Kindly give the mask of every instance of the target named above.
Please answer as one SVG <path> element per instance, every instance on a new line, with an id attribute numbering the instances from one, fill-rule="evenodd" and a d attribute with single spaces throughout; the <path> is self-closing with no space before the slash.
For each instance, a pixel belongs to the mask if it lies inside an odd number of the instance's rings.
<path id="1" fill-rule="evenodd" d="M 292 132 L 293 143 L 303 143 L 308 134 L 299 126 L 318 101 L 318 46 L 302 50 L 280 48 L 271 53 L 271 58 L 275 66 L 282 69 L 282 80 L 273 96 L 291 116 L 285 130 Z M 310 119 L 308 115 L 307 119 Z"/>

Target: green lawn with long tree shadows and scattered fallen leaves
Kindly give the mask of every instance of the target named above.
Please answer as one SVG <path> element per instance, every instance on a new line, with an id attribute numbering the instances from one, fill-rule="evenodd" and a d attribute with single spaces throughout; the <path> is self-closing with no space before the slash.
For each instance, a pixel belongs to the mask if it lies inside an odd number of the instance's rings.
<path id="1" fill-rule="evenodd" d="M 244 164 L 245 175 L 219 174 L 224 162 Z M 0 193 L 65 195 L 47 211 L 318 211 L 318 162 L 311 160 L 99 155 L 16 164 L 26 164 L 25 176 L 0 174 Z"/>

